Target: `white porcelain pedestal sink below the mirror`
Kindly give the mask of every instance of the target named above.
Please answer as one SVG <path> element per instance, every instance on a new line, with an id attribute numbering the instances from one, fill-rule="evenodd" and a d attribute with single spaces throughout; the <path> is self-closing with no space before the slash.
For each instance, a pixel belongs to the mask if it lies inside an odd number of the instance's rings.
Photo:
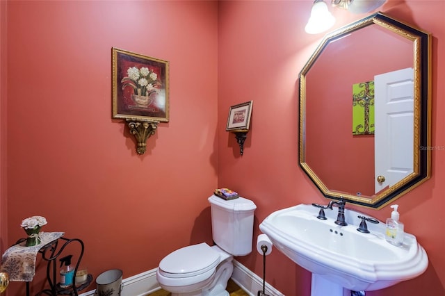
<path id="1" fill-rule="evenodd" d="M 357 231 L 364 215 L 346 208 L 348 225 L 339 226 L 338 208 L 325 210 L 300 204 L 270 214 L 259 225 L 273 245 L 293 262 L 312 272 L 312 296 L 343 295 L 343 289 L 379 290 L 413 279 L 428 267 L 428 256 L 416 237 L 405 233 L 401 247 L 385 240 L 385 223 L 368 224 L 371 233 Z M 368 216 L 369 217 L 369 216 Z M 318 294 L 314 290 L 325 291 Z M 328 287 L 327 287 L 328 286 Z M 341 290 L 341 291 L 340 291 Z"/>

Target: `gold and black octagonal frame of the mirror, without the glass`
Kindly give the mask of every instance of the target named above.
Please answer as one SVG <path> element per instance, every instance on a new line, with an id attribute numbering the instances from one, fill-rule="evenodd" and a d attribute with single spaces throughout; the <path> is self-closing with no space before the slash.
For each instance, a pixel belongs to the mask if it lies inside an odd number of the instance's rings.
<path id="1" fill-rule="evenodd" d="M 339 39 L 348 36 L 353 31 L 357 31 L 366 26 L 376 24 L 381 26 L 385 31 L 397 34 L 413 44 L 413 69 L 414 69 L 414 172 L 401 179 L 380 192 L 368 197 L 350 195 L 344 192 L 334 191 L 327 188 L 323 180 L 317 176 L 313 168 L 307 163 L 306 159 L 306 131 L 307 131 L 307 74 L 314 63 L 323 53 L 323 50 L 331 42 L 339 41 Z M 382 208 L 386 204 L 405 193 L 409 192 L 416 186 L 430 178 L 430 51 L 431 38 L 430 34 L 414 28 L 396 19 L 392 19 L 382 13 L 375 13 L 353 24 L 343 26 L 338 30 L 325 35 L 325 38 L 318 45 L 314 54 L 309 58 L 306 65 L 300 72 L 300 138 L 299 138 L 299 163 L 309 178 L 315 183 L 323 195 L 330 199 L 339 199 L 343 197 L 346 202 L 366 206 L 370 208 Z M 349 54 L 349 53 L 346 53 Z M 324 85 L 321 85 L 323 87 Z M 333 97 L 332 99 L 336 99 Z M 339 99 L 339 98 L 337 98 Z M 352 106 L 352 104 L 351 104 Z M 336 143 L 327 142 L 326 146 L 337 145 Z M 347 164 L 345 164 L 347 165 Z"/>

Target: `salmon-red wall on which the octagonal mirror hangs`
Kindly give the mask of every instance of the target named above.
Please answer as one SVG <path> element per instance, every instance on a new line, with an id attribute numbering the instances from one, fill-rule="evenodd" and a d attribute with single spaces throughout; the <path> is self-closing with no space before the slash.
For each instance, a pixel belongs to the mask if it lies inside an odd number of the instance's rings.
<path id="1" fill-rule="evenodd" d="M 259 223 L 273 211 L 301 203 L 327 204 L 298 166 L 298 74 L 323 37 L 304 31 L 312 3 L 308 0 L 219 4 L 219 130 L 225 129 L 229 106 L 249 100 L 254 104 L 243 156 L 239 155 L 234 135 L 218 134 L 218 185 L 233 188 L 257 204 L 255 236 L 260 233 Z M 337 17 L 334 28 L 366 16 L 330 10 Z M 445 117 L 437 115 L 445 108 L 441 99 L 445 96 L 445 62 L 441 56 L 445 52 L 445 1 L 390 0 L 380 10 L 432 33 L 432 145 L 442 149 L 432 151 L 431 179 L 397 200 L 406 231 L 414 233 L 428 253 L 428 270 L 416 279 L 366 295 L 444 295 Z M 325 142 L 326 149 L 332 145 L 339 143 Z M 358 209 L 380 220 L 391 212 L 389 207 Z M 238 260 L 262 274 L 262 258 L 257 252 Z M 268 283 L 284 295 L 310 295 L 309 272 L 291 263 L 277 249 L 266 261 Z"/>

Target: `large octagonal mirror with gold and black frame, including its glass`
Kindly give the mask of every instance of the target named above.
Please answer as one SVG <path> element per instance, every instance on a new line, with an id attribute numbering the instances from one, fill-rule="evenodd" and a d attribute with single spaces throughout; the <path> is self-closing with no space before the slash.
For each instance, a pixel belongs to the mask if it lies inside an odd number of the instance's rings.
<path id="1" fill-rule="evenodd" d="M 430 177 L 430 34 L 375 13 L 300 72 L 299 162 L 323 195 L 381 208 Z"/>

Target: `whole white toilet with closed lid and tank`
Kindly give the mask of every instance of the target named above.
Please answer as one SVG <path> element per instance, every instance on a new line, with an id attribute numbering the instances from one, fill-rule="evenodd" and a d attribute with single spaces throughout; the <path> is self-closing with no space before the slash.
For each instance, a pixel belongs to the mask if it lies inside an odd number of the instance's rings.
<path id="1" fill-rule="evenodd" d="M 253 213 L 249 199 L 209 197 L 213 241 L 177 249 L 159 263 L 156 279 L 172 296 L 227 296 L 234 256 L 252 252 Z"/>

